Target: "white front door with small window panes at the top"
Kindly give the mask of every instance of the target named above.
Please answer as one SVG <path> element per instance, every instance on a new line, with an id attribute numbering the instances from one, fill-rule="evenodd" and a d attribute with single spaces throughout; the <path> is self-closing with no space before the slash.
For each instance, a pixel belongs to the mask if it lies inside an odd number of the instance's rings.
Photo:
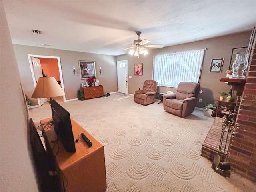
<path id="1" fill-rule="evenodd" d="M 117 61 L 118 92 L 128 94 L 128 60 Z"/>

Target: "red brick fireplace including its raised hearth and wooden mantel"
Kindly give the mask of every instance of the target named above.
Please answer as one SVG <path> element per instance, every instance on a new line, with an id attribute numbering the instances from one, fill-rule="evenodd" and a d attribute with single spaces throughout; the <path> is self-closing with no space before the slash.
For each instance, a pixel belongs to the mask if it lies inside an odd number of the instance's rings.
<path id="1" fill-rule="evenodd" d="M 236 88 L 237 95 L 242 95 L 237 103 L 236 124 L 240 125 L 238 134 L 231 138 L 227 160 L 232 172 L 236 172 L 256 182 L 256 35 L 252 32 L 249 45 L 250 58 L 246 80 L 232 79 L 228 85 Z M 226 82 L 228 79 L 222 78 Z M 241 82 L 242 81 L 242 82 Z M 237 101 L 238 102 L 238 101 Z M 239 108 L 238 108 L 239 106 Z M 204 141 L 201 156 L 213 160 L 218 151 L 222 129 L 222 118 L 216 118 Z M 224 135 L 224 138 L 226 136 Z M 222 142 L 223 145 L 223 142 Z M 221 149 L 223 153 L 223 149 Z M 226 156 L 226 153 L 223 157 Z"/>

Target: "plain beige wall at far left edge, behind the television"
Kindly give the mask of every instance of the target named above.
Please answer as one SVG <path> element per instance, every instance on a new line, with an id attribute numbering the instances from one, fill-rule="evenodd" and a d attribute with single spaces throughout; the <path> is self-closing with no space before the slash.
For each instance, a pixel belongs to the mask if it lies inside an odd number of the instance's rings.
<path id="1" fill-rule="evenodd" d="M 0 1 L 0 191 L 38 191 L 28 153 L 28 109 Z"/>

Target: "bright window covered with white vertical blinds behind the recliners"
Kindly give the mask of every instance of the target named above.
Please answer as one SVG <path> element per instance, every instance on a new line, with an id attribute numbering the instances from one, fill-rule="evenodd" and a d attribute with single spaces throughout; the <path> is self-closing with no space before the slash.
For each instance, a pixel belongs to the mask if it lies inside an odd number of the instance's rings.
<path id="1" fill-rule="evenodd" d="M 153 79 L 158 86 L 177 87 L 183 81 L 199 82 L 204 49 L 153 57 Z"/>

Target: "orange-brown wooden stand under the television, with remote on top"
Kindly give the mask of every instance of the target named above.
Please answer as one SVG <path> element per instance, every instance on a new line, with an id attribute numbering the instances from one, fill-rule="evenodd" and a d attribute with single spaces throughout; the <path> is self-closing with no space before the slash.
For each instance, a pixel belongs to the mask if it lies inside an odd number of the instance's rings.
<path id="1" fill-rule="evenodd" d="M 40 120 L 40 123 L 45 124 L 49 120 L 51 118 Z M 66 192 L 104 192 L 107 187 L 104 146 L 72 118 L 71 124 L 74 140 L 79 134 L 84 133 L 92 142 L 92 146 L 88 147 L 79 136 L 78 142 L 75 142 L 75 153 L 66 152 L 60 140 L 57 142 L 58 146 L 53 148 L 54 142 L 52 141 L 57 139 L 57 135 L 53 126 L 46 126 L 44 127 L 46 151 L 51 156 L 55 156 L 56 164 L 64 175 Z"/>

